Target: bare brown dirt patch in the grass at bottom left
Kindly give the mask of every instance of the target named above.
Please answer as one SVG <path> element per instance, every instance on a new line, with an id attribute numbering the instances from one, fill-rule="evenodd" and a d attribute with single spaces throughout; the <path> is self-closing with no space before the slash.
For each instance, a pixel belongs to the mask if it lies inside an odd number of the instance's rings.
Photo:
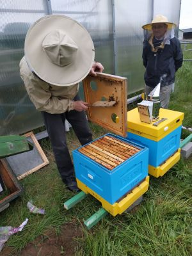
<path id="1" fill-rule="evenodd" d="M 75 254 L 77 246 L 76 238 L 82 236 L 81 227 L 77 227 L 76 223 L 69 223 L 61 228 L 61 233 L 58 236 L 54 230 L 49 230 L 29 243 L 20 253 L 13 253 L 12 248 L 4 247 L 0 255 L 72 256 Z"/>

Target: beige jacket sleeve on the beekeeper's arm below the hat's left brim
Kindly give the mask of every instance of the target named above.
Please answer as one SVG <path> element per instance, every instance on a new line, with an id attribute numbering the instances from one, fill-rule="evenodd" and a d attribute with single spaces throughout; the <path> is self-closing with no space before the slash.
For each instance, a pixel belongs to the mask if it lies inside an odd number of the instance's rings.
<path id="1" fill-rule="evenodd" d="M 70 110 L 72 100 L 53 97 L 50 90 L 44 88 L 44 81 L 39 81 L 32 73 L 30 76 L 21 74 L 21 78 L 24 81 L 29 98 L 37 110 L 51 114 L 60 114 Z"/>

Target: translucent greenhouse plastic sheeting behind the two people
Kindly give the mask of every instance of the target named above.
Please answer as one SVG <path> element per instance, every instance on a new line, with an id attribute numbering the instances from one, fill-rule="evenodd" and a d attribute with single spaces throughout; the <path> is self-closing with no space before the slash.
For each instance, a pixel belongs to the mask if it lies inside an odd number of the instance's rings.
<path id="1" fill-rule="evenodd" d="M 180 0 L 1 0 L 0 136 L 43 125 L 19 74 L 24 38 L 35 20 L 52 13 L 83 24 L 93 38 L 95 60 L 104 65 L 104 72 L 127 77 L 130 94 L 144 88 L 141 26 L 157 12 L 178 24 Z M 83 99 L 82 86 L 80 96 Z"/>

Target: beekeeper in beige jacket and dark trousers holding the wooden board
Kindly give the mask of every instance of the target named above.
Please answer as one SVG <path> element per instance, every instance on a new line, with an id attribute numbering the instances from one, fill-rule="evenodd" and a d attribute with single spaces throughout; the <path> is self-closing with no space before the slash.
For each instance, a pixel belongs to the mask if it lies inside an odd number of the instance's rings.
<path id="1" fill-rule="evenodd" d="M 79 99 L 79 82 L 96 76 L 102 65 L 94 61 L 95 49 L 88 31 L 64 15 L 47 15 L 28 30 L 20 61 L 20 76 L 31 102 L 42 112 L 61 179 L 71 191 L 78 191 L 74 167 L 65 136 L 65 119 L 81 145 L 92 141 Z"/>

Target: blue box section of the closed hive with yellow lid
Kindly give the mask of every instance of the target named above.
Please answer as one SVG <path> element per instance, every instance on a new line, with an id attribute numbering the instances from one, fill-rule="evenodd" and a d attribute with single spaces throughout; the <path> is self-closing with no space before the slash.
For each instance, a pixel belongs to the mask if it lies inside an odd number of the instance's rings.
<path id="1" fill-rule="evenodd" d="M 180 144 L 181 126 L 170 132 L 167 136 L 159 141 L 150 140 L 143 136 L 127 132 L 128 140 L 140 143 L 149 148 L 148 164 L 157 167 L 163 164 L 172 154 L 174 154 Z"/>

